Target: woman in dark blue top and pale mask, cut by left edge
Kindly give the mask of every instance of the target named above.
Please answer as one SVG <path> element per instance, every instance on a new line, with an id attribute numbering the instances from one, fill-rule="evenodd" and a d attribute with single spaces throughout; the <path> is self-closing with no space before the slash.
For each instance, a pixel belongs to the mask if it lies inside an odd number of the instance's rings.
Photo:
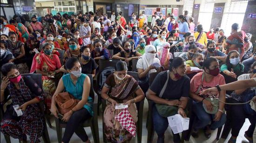
<path id="1" fill-rule="evenodd" d="M 1 63 L 0 67 L 7 62 L 11 62 L 11 59 L 14 59 L 12 52 L 7 50 L 7 43 L 4 40 L 1 40 Z"/>

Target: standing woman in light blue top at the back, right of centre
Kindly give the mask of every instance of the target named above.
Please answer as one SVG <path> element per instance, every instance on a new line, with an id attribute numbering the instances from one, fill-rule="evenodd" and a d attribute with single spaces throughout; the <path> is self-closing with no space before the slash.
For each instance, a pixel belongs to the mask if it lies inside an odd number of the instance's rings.
<path id="1" fill-rule="evenodd" d="M 179 33 L 180 39 L 183 39 L 184 38 L 183 35 L 189 32 L 189 24 L 186 17 L 184 17 L 183 15 L 179 16 L 178 23 L 179 23 L 179 29 L 177 32 Z"/>

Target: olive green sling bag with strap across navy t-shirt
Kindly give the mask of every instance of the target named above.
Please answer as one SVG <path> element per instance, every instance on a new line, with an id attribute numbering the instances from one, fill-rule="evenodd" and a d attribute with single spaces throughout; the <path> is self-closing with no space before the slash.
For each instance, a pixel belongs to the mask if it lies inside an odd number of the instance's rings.
<path id="1" fill-rule="evenodd" d="M 168 83 L 168 80 L 169 80 L 169 77 L 170 77 L 169 75 L 170 75 L 170 71 L 167 70 L 167 80 L 165 81 L 165 84 L 162 87 L 162 90 L 159 94 L 160 98 L 162 98 L 162 94 L 164 93 L 164 91 L 167 87 L 167 83 Z M 178 109 L 179 109 L 178 106 L 169 106 L 169 105 L 166 105 L 166 104 L 159 104 L 159 103 L 156 103 L 155 107 L 156 107 L 156 110 L 159 113 L 159 115 L 162 116 L 162 117 L 165 117 L 165 118 L 177 114 Z M 186 114 L 188 113 L 187 110 L 184 110 L 184 112 Z"/>

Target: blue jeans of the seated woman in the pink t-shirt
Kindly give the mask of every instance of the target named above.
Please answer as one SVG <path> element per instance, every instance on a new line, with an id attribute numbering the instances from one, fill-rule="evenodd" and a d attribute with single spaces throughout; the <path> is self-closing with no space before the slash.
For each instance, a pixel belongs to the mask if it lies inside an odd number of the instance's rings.
<path id="1" fill-rule="evenodd" d="M 221 127 L 226 122 L 226 114 L 222 114 L 222 117 L 219 121 L 213 121 L 215 118 L 214 114 L 209 114 L 205 112 L 202 107 L 202 102 L 195 102 L 193 101 L 193 112 L 195 112 L 196 118 L 194 122 L 194 129 L 198 130 L 205 126 L 207 126 L 210 122 L 210 129 L 215 130 Z"/>

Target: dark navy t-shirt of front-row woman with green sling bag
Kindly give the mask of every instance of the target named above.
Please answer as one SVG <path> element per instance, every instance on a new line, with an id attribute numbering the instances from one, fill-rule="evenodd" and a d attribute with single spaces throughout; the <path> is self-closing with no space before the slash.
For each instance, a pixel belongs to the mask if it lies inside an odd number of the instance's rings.
<path id="1" fill-rule="evenodd" d="M 161 93 L 162 87 L 167 80 L 167 71 L 159 73 L 151 86 L 149 87 L 157 96 Z M 167 87 L 162 95 L 163 99 L 180 99 L 181 97 L 189 97 L 190 80 L 187 75 L 182 76 L 178 81 L 173 81 L 170 77 Z"/>

